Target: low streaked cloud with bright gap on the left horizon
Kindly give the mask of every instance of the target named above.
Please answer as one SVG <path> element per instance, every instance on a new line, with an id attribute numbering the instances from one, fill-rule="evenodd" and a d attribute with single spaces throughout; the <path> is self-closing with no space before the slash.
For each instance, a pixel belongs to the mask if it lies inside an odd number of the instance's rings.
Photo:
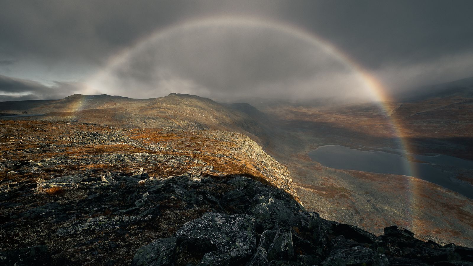
<path id="1" fill-rule="evenodd" d="M 32 99 L 60 99 L 80 89 L 80 85 L 70 82 L 54 82 L 53 86 L 0 75 L 0 101 Z"/>

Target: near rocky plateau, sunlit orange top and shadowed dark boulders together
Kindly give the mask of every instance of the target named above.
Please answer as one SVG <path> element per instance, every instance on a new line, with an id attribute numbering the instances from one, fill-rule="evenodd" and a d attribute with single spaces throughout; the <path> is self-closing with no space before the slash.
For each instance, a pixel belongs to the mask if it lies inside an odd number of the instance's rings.
<path id="1" fill-rule="evenodd" d="M 1 265 L 473 265 L 307 211 L 239 133 L 1 121 L 0 152 Z"/>

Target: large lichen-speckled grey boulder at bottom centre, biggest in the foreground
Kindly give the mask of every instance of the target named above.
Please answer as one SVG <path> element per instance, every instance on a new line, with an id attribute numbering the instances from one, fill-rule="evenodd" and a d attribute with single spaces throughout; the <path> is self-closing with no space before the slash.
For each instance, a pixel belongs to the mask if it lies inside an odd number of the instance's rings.
<path id="1" fill-rule="evenodd" d="M 256 249 L 254 218 L 242 214 L 205 213 L 185 223 L 176 237 L 203 249 L 228 253 L 233 259 L 249 257 Z"/>

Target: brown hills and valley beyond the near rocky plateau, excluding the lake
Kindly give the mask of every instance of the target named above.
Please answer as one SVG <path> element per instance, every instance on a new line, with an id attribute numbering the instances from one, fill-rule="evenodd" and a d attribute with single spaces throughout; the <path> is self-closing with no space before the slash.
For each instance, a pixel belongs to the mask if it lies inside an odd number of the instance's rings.
<path id="1" fill-rule="evenodd" d="M 395 118 L 402 122 L 397 130 L 416 152 L 469 159 L 472 104 L 465 95 L 385 103 L 388 113 L 371 104 L 258 101 L 254 105 L 258 109 L 182 94 L 151 99 L 73 95 L 61 100 L 3 102 L 0 109 L 3 114 L 44 114 L 9 116 L 12 120 L 242 133 L 289 168 L 300 201 L 325 219 L 357 225 L 377 235 L 384 227 L 398 224 L 420 239 L 473 246 L 469 237 L 473 235 L 471 199 L 417 178 L 337 170 L 307 156 L 308 151 L 327 144 L 396 147 L 398 135 L 391 124 Z M 195 144 L 192 139 L 185 142 Z M 472 176 L 471 170 L 464 171 L 457 179 L 471 182 Z"/>

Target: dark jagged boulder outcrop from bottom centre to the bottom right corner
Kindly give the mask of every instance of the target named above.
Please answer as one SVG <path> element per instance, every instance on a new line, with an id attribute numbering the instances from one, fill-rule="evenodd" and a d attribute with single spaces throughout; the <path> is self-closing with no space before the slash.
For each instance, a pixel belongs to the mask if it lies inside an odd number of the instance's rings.
<path id="1" fill-rule="evenodd" d="M 139 248 L 131 265 L 473 265 L 470 248 L 424 242 L 396 226 L 376 237 L 326 221 L 250 178 L 236 176 L 223 183 L 232 189 L 216 199 L 237 214 L 204 213 L 174 238 Z"/>

